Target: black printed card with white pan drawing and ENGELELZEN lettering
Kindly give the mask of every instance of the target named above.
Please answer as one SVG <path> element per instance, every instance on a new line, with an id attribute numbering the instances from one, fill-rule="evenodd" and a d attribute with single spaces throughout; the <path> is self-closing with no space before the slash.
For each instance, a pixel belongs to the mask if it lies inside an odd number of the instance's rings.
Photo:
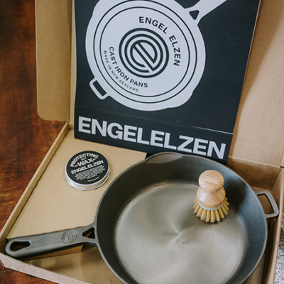
<path id="1" fill-rule="evenodd" d="M 75 0 L 75 137 L 226 163 L 259 0 Z"/>

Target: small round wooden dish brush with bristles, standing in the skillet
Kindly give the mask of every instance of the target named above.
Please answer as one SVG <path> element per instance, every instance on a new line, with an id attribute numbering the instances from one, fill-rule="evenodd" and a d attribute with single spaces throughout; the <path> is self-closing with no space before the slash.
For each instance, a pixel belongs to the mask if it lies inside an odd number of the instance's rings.
<path id="1" fill-rule="evenodd" d="M 206 170 L 198 182 L 200 187 L 194 201 L 194 213 L 204 222 L 220 222 L 229 210 L 223 175 L 217 170 Z"/>

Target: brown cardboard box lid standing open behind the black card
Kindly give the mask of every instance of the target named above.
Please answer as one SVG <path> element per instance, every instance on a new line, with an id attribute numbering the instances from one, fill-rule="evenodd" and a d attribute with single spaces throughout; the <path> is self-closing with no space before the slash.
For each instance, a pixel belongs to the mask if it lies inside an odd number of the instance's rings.
<path id="1" fill-rule="evenodd" d="M 70 121 L 75 102 L 72 0 L 37 0 L 38 114 Z M 229 155 L 280 165 L 284 151 L 284 6 L 261 1 Z M 71 95 L 70 95 L 71 94 Z"/>

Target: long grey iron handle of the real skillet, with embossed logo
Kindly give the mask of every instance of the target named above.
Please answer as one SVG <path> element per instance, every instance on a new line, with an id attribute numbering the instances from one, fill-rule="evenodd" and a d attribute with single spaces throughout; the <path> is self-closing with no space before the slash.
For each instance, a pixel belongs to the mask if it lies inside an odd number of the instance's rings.
<path id="1" fill-rule="evenodd" d="M 94 223 L 89 226 L 67 231 L 56 231 L 34 236 L 21 236 L 11 239 L 6 244 L 6 253 L 13 258 L 23 259 L 63 251 L 84 244 L 97 246 L 96 238 L 92 239 L 87 237 L 87 235 L 93 231 Z"/>

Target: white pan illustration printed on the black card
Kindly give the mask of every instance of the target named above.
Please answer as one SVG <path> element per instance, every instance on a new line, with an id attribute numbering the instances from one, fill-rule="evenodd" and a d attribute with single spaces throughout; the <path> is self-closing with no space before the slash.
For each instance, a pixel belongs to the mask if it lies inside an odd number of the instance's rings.
<path id="1" fill-rule="evenodd" d="M 206 61 L 198 23 L 225 1 L 100 0 L 85 43 L 94 94 L 141 111 L 185 104 Z"/>

